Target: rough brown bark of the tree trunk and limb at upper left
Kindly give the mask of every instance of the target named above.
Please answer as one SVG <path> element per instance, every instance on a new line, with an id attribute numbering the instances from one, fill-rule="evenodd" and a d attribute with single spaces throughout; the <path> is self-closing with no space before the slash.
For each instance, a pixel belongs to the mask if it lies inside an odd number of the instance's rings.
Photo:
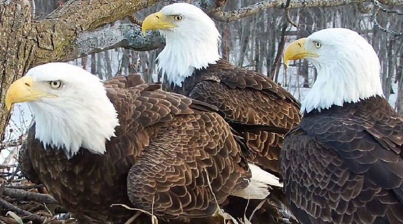
<path id="1" fill-rule="evenodd" d="M 33 21 L 31 4 L 26 0 L 0 4 L 2 139 L 10 118 L 4 100 L 12 82 L 22 77 L 34 65 L 50 61 L 67 61 L 87 54 L 91 50 L 83 51 L 83 46 L 80 44 L 80 41 L 84 41 L 83 32 L 93 31 L 157 2 L 159 0 L 71 0 L 39 22 Z M 128 31 L 126 33 L 130 34 Z M 130 44 L 130 36 L 126 39 Z M 156 46 L 158 47 L 158 44 Z M 131 47 L 137 49 L 135 45 Z M 149 49 L 144 44 L 140 48 Z"/>

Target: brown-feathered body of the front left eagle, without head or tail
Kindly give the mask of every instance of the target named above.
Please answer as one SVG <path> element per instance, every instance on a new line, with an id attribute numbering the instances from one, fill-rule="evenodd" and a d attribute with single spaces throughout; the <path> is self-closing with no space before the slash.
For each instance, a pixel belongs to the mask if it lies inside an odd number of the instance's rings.
<path id="1" fill-rule="evenodd" d="M 110 207 L 118 203 L 164 218 L 207 216 L 217 208 L 207 175 L 219 202 L 250 177 L 242 152 L 247 148 L 214 107 L 139 77 L 105 82 L 120 125 L 116 137 L 106 141 L 104 155 L 81 148 L 68 160 L 62 150 L 43 148 L 35 139 L 35 124 L 29 130 L 23 172 L 34 171 L 82 223 L 124 223 L 136 211 Z"/>

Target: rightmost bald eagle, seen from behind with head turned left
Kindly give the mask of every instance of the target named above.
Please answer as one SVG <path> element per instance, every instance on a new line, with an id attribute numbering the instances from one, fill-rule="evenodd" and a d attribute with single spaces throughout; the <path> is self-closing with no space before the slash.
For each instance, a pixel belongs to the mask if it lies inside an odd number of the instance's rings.
<path id="1" fill-rule="evenodd" d="M 317 79 L 281 153 L 294 215 L 302 223 L 403 223 L 403 118 L 383 95 L 374 49 L 332 28 L 286 48 L 286 65 L 301 58 Z"/>

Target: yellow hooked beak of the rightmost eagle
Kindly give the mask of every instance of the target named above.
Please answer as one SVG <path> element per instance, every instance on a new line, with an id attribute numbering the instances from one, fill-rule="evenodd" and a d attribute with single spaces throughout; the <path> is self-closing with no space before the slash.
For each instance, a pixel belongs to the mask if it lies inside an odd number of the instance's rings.
<path id="1" fill-rule="evenodd" d="M 305 41 L 306 37 L 298 39 L 287 46 L 286 51 L 284 52 L 284 64 L 286 65 L 286 69 L 289 66 L 290 60 L 298 60 L 308 56 L 319 56 L 318 54 L 305 50 Z"/>

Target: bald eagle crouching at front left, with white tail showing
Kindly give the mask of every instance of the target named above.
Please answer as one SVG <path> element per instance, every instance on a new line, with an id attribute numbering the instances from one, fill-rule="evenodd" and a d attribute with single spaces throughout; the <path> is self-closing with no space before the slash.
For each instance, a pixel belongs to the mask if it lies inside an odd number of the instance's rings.
<path id="1" fill-rule="evenodd" d="M 269 174 L 250 178 L 249 150 L 217 109 L 160 89 L 139 74 L 102 83 L 71 64 L 31 68 L 6 96 L 9 109 L 27 102 L 35 119 L 23 172 L 81 223 L 133 215 L 111 204 L 166 220 L 211 216 L 230 194 L 266 197 Z"/>

